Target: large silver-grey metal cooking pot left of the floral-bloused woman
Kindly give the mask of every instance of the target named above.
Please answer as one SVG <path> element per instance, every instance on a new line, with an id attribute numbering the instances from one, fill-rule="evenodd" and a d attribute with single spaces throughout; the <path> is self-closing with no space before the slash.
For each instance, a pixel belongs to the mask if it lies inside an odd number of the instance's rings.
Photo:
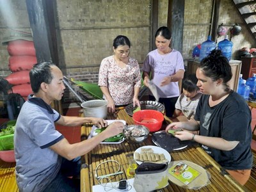
<path id="1" fill-rule="evenodd" d="M 88 100 L 81 104 L 84 116 L 107 118 L 107 104 L 106 100 Z"/>

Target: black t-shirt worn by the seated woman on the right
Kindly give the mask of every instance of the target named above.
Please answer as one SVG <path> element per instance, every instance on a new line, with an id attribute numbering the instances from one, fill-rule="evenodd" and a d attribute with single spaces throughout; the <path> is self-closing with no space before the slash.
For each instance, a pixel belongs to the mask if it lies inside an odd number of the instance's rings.
<path id="1" fill-rule="evenodd" d="M 200 135 L 239 143 L 229 151 L 205 145 L 202 148 L 227 170 L 252 168 L 252 115 L 246 101 L 232 91 L 225 100 L 211 108 L 209 96 L 202 95 L 196 108 L 195 120 L 200 121 Z"/>

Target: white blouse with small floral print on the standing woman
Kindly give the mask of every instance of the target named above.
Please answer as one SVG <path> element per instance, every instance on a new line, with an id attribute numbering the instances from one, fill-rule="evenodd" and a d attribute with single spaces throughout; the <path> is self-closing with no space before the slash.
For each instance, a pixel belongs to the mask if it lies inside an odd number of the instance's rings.
<path id="1" fill-rule="evenodd" d="M 131 104 L 134 87 L 141 86 L 138 61 L 129 57 L 126 67 L 121 68 L 114 56 L 104 58 L 100 64 L 98 85 L 108 87 L 116 106 Z"/>

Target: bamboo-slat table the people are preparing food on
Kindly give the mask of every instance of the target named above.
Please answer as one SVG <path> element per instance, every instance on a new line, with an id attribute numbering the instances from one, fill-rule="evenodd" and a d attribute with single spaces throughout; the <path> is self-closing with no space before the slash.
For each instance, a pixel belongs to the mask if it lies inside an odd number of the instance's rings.
<path id="1" fill-rule="evenodd" d="M 132 117 L 127 115 L 124 109 L 118 111 L 116 116 L 108 116 L 108 119 L 125 120 L 128 125 L 133 124 Z M 170 123 L 168 118 L 165 118 Z M 86 124 L 81 127 L 81 140 L 87 138 L 90 134 L 92 124 Z M 111 182 L 119 181 L 121 179 L 131 179 L 126 173 L 129 159 L 133 158 L 134 151 L 144 145 L 154 145 L 150 137 L 143 143 L 131 144 L 126 141 L 120 144 L 100 144 L 91 152 L 81 157 L 81 191 L 92 191 L 92 186 L 97 185 L 97 179 L 94 177 L 95 168 L 100 163 L 113 159 L 118 161 L 121 165 L 121 171 L 124 172 L 115 177 L 111 177 Z M 201 147 L 186 147 L 182 150 L 173 151 L 170 153 L 172 161 L 187 160 L 196 163 L 209 173 L 211 173 L 211 183 L 200 191 L 246 191 L 247 189 L 236 182 L 230 175 L 228 175 L 220 164 L 216 163 Z M 98 175 L 106 175 L 114 173 L 118 170 L 118 165 L 112 162 L 104 163 L 98 170 Z M 180 188 L 169 181 L 166 188 L 159 189 L 159 191 L 195 191 L 190 189 Z"/>

